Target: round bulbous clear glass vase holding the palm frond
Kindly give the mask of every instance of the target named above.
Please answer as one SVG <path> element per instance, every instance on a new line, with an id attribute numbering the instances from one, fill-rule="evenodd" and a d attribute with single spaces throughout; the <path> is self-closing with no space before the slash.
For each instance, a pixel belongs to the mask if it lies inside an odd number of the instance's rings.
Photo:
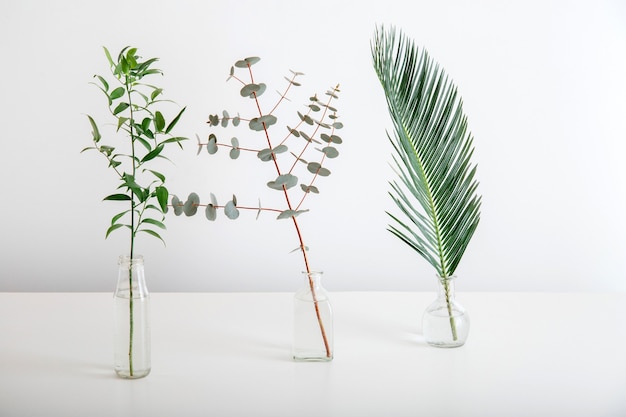
<path id="1" fill-rule="evenodd" d="M 456 276 L 437 276 L 437 299 L 424 311 L 422 330 L 426 343 L 431 346 L 463 346 L 469 335 L 470 319 L 455 299 L 455 279 Z"/>

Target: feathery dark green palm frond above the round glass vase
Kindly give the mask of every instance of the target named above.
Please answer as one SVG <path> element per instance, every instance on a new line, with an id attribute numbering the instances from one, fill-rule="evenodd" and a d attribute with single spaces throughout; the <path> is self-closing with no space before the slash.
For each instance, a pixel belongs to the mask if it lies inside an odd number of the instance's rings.
<path id="1" fill-rule="evenodd" d="M 426 50 L 401 32 L 381 28 L 371 47 L 394 125 L 387 135 L 398 179 L 389 195 L 402 216 L 388 213 L 389 231 L 449 277 L 480 220 L 462 100 Z"/>

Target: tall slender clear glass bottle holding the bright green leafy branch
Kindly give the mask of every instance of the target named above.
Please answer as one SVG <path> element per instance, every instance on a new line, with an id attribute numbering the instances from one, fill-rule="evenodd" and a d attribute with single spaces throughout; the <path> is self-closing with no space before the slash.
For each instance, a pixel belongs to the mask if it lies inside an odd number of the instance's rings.
<path id="1" fill-rule="evenodd" d="M 142 256 L 120 256 L 115 304 L 115 372 L 121 378 L 150 373 L 150 296 Z"/>

